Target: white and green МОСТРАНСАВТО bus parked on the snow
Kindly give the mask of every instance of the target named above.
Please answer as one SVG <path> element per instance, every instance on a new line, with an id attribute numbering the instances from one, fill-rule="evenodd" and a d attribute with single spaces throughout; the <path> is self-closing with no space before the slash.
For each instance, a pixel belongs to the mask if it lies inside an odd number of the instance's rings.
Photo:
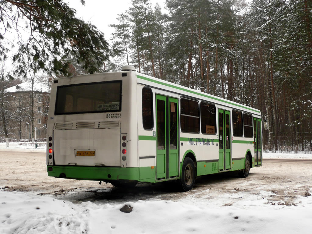
<path id="1" fill-rule="evenodd" d="M 265 123 L 266 124 L 266 123 Z M 120 72 L 54 79 L 49 176 L 133 186 L 262 165 L 261 112 L 207 93 Z"/>

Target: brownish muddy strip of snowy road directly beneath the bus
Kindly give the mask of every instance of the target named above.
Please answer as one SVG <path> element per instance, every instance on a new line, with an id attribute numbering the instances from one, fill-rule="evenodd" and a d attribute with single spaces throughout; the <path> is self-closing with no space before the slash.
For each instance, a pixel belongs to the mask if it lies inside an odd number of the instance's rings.
<path id="1" fill-rule="evenodd" d="M 237 194 L 241 197 L 260 191 L 273 193 L 268 197 L 272 203 L 283 200 L 291 204 L 312 188 L 312 160 L 267 159 L 263 164 L 252 168 L 247 178 L 238 178 L 236 173 L 199 177 L 193 190 L 180 193 L 176 191 L 175 183 L 139 183 L 133 189 L 124 190 L 111 184 L 99 185 L 96 181 L 48 177 L 45 153 L 1 151 L 0 188 L 7 186 L 8 191 L 40 193 L 71 202 L 179 201 L 189 196 L 207 200 L 230 196 L 228 205 L 241 200 L 235 196 Z"/>

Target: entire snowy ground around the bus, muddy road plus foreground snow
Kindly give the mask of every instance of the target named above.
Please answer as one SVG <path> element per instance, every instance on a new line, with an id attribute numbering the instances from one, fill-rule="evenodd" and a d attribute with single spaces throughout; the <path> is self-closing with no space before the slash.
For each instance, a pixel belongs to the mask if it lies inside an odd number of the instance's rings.
<path id="1" fill-rule="evenodd" d="M 310 233 L 311 178 L 311 160 L 270 159 L 248 178 L 199 177 L 185 193 L 174 183 L 123 190 L 48 177 L 45 153 L 1 150 L 0 233 Z"/>

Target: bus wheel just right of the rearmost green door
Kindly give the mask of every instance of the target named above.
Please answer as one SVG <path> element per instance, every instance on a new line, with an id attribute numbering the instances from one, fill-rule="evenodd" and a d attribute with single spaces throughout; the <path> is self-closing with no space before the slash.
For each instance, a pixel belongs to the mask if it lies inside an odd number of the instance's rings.
<path id="1" fill-rule="evenodd" d="M 185 158 L 182 166 L 180 179 L 181 189 L 183 192 L 193 188 L 195 183 L 195 165 L 191 158 Z"/>

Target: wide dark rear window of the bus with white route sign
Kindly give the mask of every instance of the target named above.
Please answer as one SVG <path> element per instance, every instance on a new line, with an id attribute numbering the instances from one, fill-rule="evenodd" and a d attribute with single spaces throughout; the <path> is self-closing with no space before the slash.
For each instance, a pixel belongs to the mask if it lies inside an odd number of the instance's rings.
<path id="1" fill-rule="evenodd" d="M 120 81 L 57 87 L 55 115 L 121 111 Z"/>

